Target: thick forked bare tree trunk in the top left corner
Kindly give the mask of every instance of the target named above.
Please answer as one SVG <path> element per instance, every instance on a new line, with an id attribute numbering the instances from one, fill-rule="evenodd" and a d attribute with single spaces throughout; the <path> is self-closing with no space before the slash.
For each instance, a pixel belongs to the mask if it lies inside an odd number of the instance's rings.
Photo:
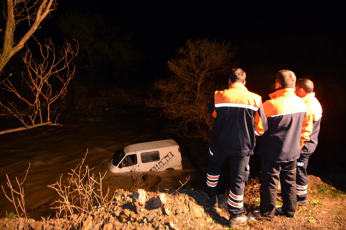
<path id="1" fill-rule="evenodd" d="M 6 27 L 0 50 L 0 74 L 10 58 L 25 46 L 26 41 L 39 28 L 41 22 L 49 18 L 51 11 L 56 9 L 56 0 L 7 0 L 6 4 L 3 10 Z M 15 41 L 16 26 L 24 20 L 27 21 L 29 28 L 19 41 Z"/>

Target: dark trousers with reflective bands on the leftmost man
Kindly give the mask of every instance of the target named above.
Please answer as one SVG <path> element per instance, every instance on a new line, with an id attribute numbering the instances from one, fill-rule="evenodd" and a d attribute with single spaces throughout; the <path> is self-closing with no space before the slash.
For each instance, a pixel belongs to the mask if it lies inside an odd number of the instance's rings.
<path id="1" fill-rule="evenodd" d="M 209 198 L 217 196 L 222 163 L 227 158 L 229 159 L 230 169 L 230 192 L 227 202 L 228 212 L 232 217 L 240 217 L 244 213 L 243 196 L 245 181 L 248 180 L 250 174 L 248 166 L 250 155 L 246 157 L 229 156 L 219 149 L 211 147 L 208 154 L 206 192 Z"/>

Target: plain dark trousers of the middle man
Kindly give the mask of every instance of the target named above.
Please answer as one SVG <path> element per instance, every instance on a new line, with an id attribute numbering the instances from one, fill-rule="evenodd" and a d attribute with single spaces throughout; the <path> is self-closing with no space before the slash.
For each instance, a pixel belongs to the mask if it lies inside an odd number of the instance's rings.
<path id="1" fill-rule="evenodd" d="M 277 196 L 277 186 L 281 183 L 282 212 L 292 217 L 297 207 L 295 188 L 297 160 L 288 163 L 262 162 L 262 183 L 260 188 L 260 212 L 273 219 Z"/>

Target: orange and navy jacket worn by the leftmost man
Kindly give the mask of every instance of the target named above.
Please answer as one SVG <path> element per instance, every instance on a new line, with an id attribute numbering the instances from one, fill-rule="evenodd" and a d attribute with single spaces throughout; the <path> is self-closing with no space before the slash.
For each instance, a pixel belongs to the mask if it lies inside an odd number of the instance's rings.
<path id="1" fill-rule="evenodd" d="M 212 147 L 231 156 L 253 154 L 255 132 L 261 135 L 267 130 L 261 96 L 242 84 L 231 84 L 228 89 L 215 91 L 208 110 L 216 118 L 210 137 Z"/>

